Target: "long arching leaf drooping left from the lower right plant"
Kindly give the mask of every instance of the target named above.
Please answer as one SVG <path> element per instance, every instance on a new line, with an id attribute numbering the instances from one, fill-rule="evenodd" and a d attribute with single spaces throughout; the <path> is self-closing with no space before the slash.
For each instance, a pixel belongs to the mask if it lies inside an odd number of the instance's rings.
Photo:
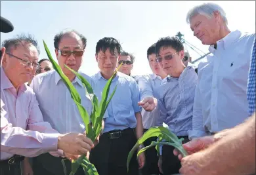
<path id="1" fill-rule="evenodd" d="M 143 134 L 143 136 L 141 138 L 139 138 L 139 140 L 137 141 L 135 146 L 133 146 L 133 148 L 129 152 L 129 155 L 127 157 L 127 171 L 129 171 L 129 163 L 131 161 L 131 158 L 133 157 L 133 153 L 138 149 L 140 144 L 143 144 L 143 142 L 145 142 L 145 140 L 147 140 L 148 138 L 151 138 L 151 137 L 158 137 L 159 138 L 160 136 L 161 136 L 162 139 L 165 139 L 167 142 L 174 143 L 175 146 L 181 146 L 181 147 L 179 147 L 179 149 L 183 149 L 181 141 L 179 140 L 179 138 L 175 134 L 173 134 L 173 132 L 169 131 L 168 128 L 165 128 L 163 126 L 152 127 L 150 129 L 148 129 Z M 183 149 L 181 152 L 185 153 L 186 151 Z"/>

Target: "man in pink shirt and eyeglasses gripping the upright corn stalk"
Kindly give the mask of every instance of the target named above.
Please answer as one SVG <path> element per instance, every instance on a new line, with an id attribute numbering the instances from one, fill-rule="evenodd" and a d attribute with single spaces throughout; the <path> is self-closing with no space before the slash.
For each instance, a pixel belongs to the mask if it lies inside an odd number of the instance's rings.
<path id="1" fill-rule="evenodd" d="M 56 151 L 60 156 L 72 153 L 74 158 L 91 150 L 93 142 L 84 134 L 59 134 L 43 121 L 35 94 L 25 85 L 38 66 L 37 41 L 18 35 L 2 46 L 0 174 L 20 175 L 24 156 Z"/>

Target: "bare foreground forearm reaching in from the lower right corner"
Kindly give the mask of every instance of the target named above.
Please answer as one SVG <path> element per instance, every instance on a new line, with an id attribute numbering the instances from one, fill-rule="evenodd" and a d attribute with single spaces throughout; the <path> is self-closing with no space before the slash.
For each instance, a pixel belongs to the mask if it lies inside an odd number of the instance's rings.
<path id="1" fill-rule="evenodd" d="M 231 134 L 232 133 L 232 134 Z M 217 174 L 252 174 L 255 172 L 255 114 L 244 124 L 225 130 L 219 140 L 203 152 Z"/>

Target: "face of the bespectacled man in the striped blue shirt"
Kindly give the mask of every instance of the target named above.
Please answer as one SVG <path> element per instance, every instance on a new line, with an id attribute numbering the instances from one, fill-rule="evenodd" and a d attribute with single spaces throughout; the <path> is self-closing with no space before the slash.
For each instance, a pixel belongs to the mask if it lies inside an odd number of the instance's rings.
<path id="1" fill-rule="evenodd" d="M 172 47 L 161 47 L 157 56 L 159 66 L 167 75 L 177 73 L 177 69 L 182 66 L 184 50 L 177 52 Z"/>

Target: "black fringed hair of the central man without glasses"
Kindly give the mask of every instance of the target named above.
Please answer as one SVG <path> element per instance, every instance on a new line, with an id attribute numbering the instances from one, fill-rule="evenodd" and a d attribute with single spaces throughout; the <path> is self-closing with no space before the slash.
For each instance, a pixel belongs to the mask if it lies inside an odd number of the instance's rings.
<path id="1" fill-rule="evenodd" d="M 118 54 L 121 53 L 121 44 L 119 41 L 114 39 L 114 37 L 104 37 L 100 39 L 96 44 L 96 54 L 100 52 L 106 52 L 107 49 L 110 49 L 110 53 L 114 54 L 115 50 L 117 50 Z"/>

